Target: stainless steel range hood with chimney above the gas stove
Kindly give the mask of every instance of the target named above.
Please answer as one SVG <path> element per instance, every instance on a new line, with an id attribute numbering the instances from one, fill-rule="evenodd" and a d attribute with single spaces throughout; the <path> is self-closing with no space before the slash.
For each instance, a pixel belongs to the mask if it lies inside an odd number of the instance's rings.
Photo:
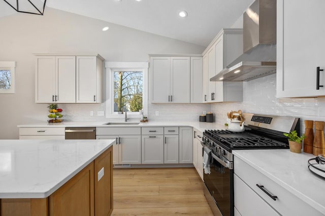
<path id="1" fill-rule="evenodd" d="M 256 0 L 243 15 L 243 51 L 210 81 L 248 81 L 276 72 L 276 0 Z"/>

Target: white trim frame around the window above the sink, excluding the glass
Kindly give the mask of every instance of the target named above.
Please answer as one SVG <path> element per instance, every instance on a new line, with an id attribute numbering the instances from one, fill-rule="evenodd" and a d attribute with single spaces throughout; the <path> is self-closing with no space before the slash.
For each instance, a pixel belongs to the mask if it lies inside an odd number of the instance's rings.
<path id="1" fill-rule="evenodd" d="M 148 114 L 148 62 L 105 62 L 106 67 L 106 118 L 123 119 L 124 115 L 114 112 L 114 71 L 142 71 L 143 92 L 142 109 L 143 115 Z M 127 118 L 141 118 L 139 112 L 127 112 Z"/>

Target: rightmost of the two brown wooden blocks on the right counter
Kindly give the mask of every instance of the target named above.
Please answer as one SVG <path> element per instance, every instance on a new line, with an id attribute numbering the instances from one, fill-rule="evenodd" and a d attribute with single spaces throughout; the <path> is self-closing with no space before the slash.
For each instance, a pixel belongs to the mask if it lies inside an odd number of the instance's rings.
<path id="1" fill-rule="evenodd" d="M 324 121 L 315 121 L 315 136 L 313 142 L 313 155 L 325 153 L 325 139 L 324 139 Z"/>

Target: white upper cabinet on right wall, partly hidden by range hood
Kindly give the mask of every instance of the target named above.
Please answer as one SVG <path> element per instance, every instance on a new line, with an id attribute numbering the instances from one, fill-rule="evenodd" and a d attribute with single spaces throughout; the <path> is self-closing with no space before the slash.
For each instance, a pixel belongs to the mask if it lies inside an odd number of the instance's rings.
<path id="1" fill-rule="evenodd" d="M 242 29 L 222 29 L 203 52 L 203 87 L 207 85 L 207 102 L 232 102 L 243 100 L 242 82 L 210 81 L 243 53 Z M 206 75 L 208 77 L 206 77 Z"/>

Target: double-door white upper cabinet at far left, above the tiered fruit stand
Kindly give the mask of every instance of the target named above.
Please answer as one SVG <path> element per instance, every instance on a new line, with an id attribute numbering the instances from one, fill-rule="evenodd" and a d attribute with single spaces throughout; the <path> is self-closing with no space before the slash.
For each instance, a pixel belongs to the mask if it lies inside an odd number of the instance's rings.
<path id="1" fill-rule="evenodd" d="M 36 103 L 76 102 L 76 57 L 38 56 Z"/>

